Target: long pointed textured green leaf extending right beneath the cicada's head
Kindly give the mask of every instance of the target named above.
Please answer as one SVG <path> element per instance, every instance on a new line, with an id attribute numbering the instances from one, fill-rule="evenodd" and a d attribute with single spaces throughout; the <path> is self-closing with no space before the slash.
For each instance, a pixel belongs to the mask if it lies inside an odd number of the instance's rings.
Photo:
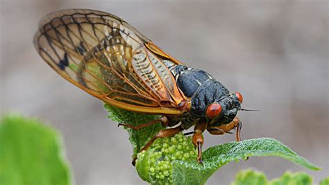
<path id="1" fill-rule="evenodd" d="M 273 138 L 255 138 L 208 148 L 208 150 L 203 152 L 202 165 L 195 161 L 174 161 L 174 184 L 204 184 L 221 166 L 226 165 L 230 161 L 247 159 L 248 156 L 280 156 L 304 168 L 321 170 L 321 168 L 314 166 L 302 156 L 298 156 L 298 154 L 278 140 Z M 192 178 L 193 181 L 190 180 Z M 199 182 L 195 183 L 194 179 L 199 179 Z"/>

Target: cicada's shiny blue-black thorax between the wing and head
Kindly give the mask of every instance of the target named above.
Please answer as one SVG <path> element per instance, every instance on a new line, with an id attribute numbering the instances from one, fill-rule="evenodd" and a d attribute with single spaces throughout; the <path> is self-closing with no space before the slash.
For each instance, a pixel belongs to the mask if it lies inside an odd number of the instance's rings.
<path id="1" fill-rule="evenodd" d="M 203 70 L 185 65 L 173 65 L 169 70 L 174 75 L 178 88 L 191 99 L 189 112 L 180 117 L 169 118 L 173 124 L 182 122 L 187 129 L 197 122 L 208 121 L 205 118 L 206 108 L 229 95 L 229 91 L 219 81 Z"/>

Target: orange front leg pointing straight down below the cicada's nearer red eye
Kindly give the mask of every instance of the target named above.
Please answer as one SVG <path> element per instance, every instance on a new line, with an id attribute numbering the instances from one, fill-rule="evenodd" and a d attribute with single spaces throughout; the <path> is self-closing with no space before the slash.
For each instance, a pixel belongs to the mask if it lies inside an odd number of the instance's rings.
<path id="1" fill-rule="evenodd" d="M 206 127 L 207 123 L 196 124 L 194 134 L 192 136 L 192 143 L 194 147 L 198 147 L 198 158 L 196 160 L 199 163 L 202 163 L 202 145 L 204 143 L 202 133 Z"/>

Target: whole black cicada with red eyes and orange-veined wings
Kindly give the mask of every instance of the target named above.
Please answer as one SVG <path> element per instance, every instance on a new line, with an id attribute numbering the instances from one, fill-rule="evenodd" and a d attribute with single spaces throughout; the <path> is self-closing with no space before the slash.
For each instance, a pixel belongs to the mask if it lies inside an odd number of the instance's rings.
<path id="1" fill-rule="evenodd" d="M 119 123 L 130 129 L 159 122 L 167 127 L 142 150 L 194 127 L 201 163 L 203 131 L 221 135 L 236 129 L 240 140 L 236 115 L 242 95 L 230 93 L 208 72 L 187 67 L 115 15 L 87 9 L 51 13 L 40 21 L 34 45 L 53 70 L 90 95 L 126 111 L 161 115 L 137 127 Z"/>

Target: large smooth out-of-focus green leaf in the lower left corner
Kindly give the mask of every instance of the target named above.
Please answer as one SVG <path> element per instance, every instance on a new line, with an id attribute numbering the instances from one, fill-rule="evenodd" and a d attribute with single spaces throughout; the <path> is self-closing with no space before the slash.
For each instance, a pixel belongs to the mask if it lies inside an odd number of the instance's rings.
<path id="1" fill-rule="evenodd" d="M 71 184 L 57 131 L 38 120 L 6 115 L 0 120 L 0 184 Z"/>

